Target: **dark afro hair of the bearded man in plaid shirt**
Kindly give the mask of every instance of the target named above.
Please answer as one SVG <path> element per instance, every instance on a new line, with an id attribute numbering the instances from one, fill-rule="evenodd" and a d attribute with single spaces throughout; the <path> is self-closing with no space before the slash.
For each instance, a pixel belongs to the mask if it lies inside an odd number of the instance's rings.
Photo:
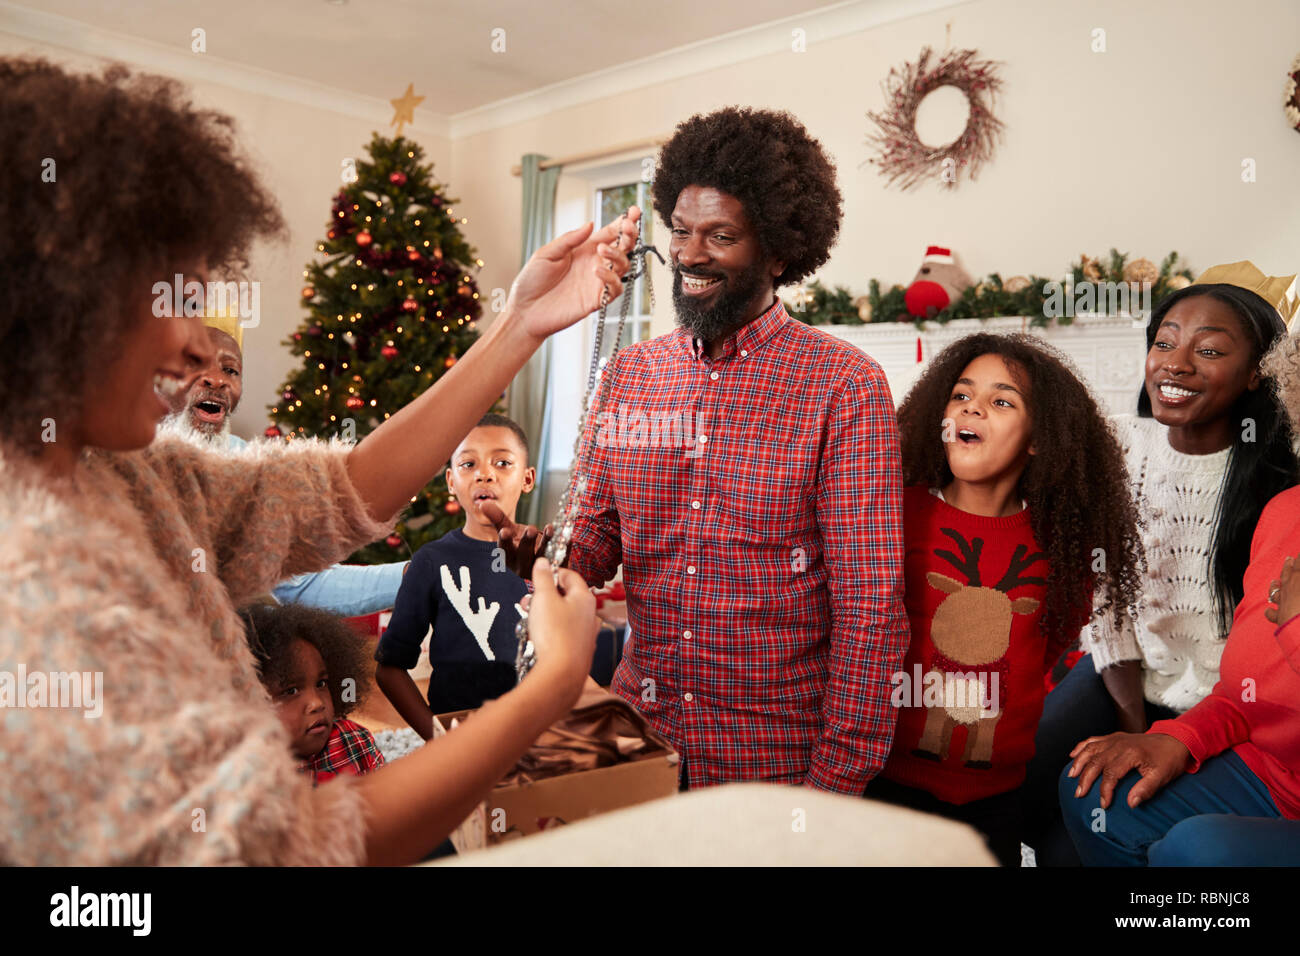
<path id="1" fill-rule="evenodd" d="M 688 186 L 740 200 L 763 251 L 785 261 L 776 287 L 812 274 L 840 234 L 835 164 L 784 111 L 724 107 L 680 124 L 659 152 L 651 187 L 664 224 Z"/>

